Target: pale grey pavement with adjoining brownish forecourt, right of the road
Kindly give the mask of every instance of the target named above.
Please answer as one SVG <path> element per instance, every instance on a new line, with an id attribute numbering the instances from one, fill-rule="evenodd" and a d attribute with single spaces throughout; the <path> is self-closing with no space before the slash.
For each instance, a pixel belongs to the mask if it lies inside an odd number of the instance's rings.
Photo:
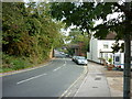
<path id="1" fill-rule="evenodd" d="M 123 97 L 123 72 L 89 62 L 88 74 L 74 97 Z"/>

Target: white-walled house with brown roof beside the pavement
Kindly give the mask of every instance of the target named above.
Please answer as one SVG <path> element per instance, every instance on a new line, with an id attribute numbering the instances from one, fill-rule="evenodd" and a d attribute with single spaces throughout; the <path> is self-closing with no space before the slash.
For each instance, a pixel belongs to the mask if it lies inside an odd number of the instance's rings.
<path id="1" fill-rule="evenodd" d="M 112 44 L 116 42 L 114 37 L 116 33 L 112 32 L 110 32 L 103 40 L 95 38 L 91 36 L 90 50 L 87 53 L 87 59 L 102 64 L 101 58 L 105 58 L 106 61 L 109 61 L 111 58 L 113 64 L 114 54 L 112 53 L 111 46 L 113 46 Z M 124 43 L 124 41 L 120 40 L 119 45 L 122 43 Z M 122 55 L 123 53 L 120 54 Z"/>

